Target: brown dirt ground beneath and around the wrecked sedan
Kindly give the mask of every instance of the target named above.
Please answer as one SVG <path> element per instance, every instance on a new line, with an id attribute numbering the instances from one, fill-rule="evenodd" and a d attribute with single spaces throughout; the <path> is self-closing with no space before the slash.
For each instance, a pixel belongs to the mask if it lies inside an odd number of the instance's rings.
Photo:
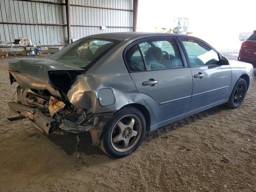
<path id="1" fill-rule="evenodd" d="M 122 159 L 81 134 L 79 170 L 75 134 L 44 135 L 29 120 L 6 119 L 17 86 L 7 73 L 12 58 L 0 58 L 1 192 L 256 191 L 256 82 L 240 108 L 221 105 L 147 133 Z"/>

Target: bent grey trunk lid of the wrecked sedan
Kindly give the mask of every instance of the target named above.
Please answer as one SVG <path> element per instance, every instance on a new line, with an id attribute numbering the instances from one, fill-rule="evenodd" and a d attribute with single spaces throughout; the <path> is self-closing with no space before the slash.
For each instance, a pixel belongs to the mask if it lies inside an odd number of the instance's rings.
<path id="1" fill-rule="evenodd" d="M 65 80 L 70 78 L 69 80 L 71 81 L 72 78 L 82 72 L 84 72 L 82 68 L 68 66 L 51 59 L 20 58 L 9 62 L 11 83 L 13 82 L 13 77 L 22 88 L 48 90 L 51 94 L 59 97 L 59 85 L 63 81 L 61 78 L 65 78 Z M 61 76 L 60 74 L 65 75 Z M 65 84 L 64 86 L 67 87 L 69 85 Z"/>

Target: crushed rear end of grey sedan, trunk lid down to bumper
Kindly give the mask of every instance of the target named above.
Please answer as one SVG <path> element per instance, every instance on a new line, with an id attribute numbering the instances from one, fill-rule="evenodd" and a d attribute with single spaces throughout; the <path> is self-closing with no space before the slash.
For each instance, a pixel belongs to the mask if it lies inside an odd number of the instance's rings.
<path id="1" fill-rule="evenodd" d="M 67 97 L 76 77 L 83 72 L 81 68 L 65 66 L 53 60 L 12 60 L 9 63 L 10 81 L 17 82 L 19 86 L 18 103 L 9 103 L 10 108 L 30 118 L 47 134 L 60 130 L 88 131 L 99 123 L 99 118 L 90 111 L 75 109 Z"/>

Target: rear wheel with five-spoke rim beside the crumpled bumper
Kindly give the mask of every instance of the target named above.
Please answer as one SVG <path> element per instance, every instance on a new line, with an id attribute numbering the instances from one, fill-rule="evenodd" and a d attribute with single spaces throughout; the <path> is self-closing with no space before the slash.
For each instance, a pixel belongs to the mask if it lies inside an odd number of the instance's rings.
<path id="1" fill-rule="evenodd" d="M 145 132 L 146 121 L 142 112 L 132 106 L 124 107 L 106 125 L 100 148 L 112 158 L 125 157 L 138 148 Z"/>

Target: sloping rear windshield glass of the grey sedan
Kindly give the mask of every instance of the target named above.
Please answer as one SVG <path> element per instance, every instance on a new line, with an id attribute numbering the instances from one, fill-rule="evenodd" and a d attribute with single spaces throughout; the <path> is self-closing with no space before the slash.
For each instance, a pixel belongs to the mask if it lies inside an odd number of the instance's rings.
<path id="1" fill-rule="evenodd" d="M 82 38 L 53 54 L 50 59 L 88 69 L 119 42 L 112 39 Z"/>

